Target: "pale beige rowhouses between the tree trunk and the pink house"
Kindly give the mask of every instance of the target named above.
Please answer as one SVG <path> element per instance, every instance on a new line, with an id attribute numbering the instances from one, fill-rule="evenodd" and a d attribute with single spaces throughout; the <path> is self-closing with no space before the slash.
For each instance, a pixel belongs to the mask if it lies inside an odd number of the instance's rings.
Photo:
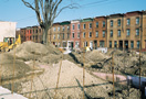
<path id="1" fill-rule="evenodd" d="M 49 31 L 49 41 L 58 47 L 69 47 L 70 24 L 70 21 L 54 23 L 51 31 Z"/>

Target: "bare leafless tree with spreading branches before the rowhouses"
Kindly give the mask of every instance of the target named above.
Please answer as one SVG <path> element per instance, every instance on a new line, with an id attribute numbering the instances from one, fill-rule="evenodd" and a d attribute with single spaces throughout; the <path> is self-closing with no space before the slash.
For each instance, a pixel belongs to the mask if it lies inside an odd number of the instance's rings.
<path id="1" fill-rule="evenodd" d="M 43 29 L 43 44 L 48 45 L 48 31 L 51 29 L 54 19 L 66 8 L 73 9 L 76 8 L 74 3 L 60 8 L 60 4 L 63 0 L 34 0 L 33 3 L 30 3 L 27 0 L 22 0 L 24 6 L 31 8 L 35 11 L 38 22 Z M 51 36 L 51 35 L 50 35 Z"/>

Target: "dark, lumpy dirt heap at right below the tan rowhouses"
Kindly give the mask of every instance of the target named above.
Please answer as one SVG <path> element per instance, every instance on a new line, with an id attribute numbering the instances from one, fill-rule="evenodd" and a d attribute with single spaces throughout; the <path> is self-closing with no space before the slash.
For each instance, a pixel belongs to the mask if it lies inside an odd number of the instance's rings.
<path id="1" fill-rule="evenodd" d="M 137 52 L 124 52 L 124 51 L 112 51 L 109 50 L 106 55 L 108 57 L 112 57 L 112 54 L 114 53 L 114 70 L 115 74 L 121 74 L 121 75 L 139 75 L 139 54 Z M 145 76 L 145 65 L 146 65 L 146 55 L 142 54 L 142 75 Z M 102 73 L 112 73 L 112 58 L 108 58 L 104 62 L 103 66 L 100 69 Z M 95 66 L 94 66 L 95 67 Z M 95 70 L 95 69 L 94 69 Z"/>

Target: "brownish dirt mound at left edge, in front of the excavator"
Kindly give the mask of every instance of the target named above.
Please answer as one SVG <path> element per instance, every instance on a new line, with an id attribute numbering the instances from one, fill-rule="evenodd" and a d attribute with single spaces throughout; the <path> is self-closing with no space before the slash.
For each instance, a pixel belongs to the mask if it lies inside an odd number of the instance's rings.
<path id="1" fill-rule="evenodd" d="M 0 64 L 2 64 L 2 79 L 11 79 L 13 74 L 13 55 L 10 53 L 3 53 L 0 54 L 1 61 Z M 24 64 L 24 62 L 15 59 L 15 66 L 14 66 L 14 74 L 15 77 L 22 77 L 25 76 L 27 73 L 31 72 L 31 68 Z"/>

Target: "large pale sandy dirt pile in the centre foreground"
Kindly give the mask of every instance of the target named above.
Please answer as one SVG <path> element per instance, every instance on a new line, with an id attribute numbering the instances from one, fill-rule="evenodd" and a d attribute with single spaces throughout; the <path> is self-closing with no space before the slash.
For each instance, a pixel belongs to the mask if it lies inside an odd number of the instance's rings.
<path id="1" fill-rule="evenodd" d="M 58 73 L 60 68 L 60 63 L 52 66 L 40 65 L 40 67 L 45 68 L 44 74 L 35 77 L 33 79 L 33 88 L 31 98 L 34 99 L 49 99 L 54 98 L 54 90 L 56 86 Z M 83 69 L 75 64 L 63 61 L 60 74 L 59 89 L 56 99 L 70 98 L 70 99 L 82 99 L 83 98 Z M 24 94 L 30 90 L 31 81 L 21 82 L 20 92 Z M 86 98 L 105 98 L 109 99 L 108 92 L 112 91 L 112 85 L 100 78 L 96 78 L 85 72 L 85 97 Z M 29 97 L 29 94 L 24 96 Z"/>

